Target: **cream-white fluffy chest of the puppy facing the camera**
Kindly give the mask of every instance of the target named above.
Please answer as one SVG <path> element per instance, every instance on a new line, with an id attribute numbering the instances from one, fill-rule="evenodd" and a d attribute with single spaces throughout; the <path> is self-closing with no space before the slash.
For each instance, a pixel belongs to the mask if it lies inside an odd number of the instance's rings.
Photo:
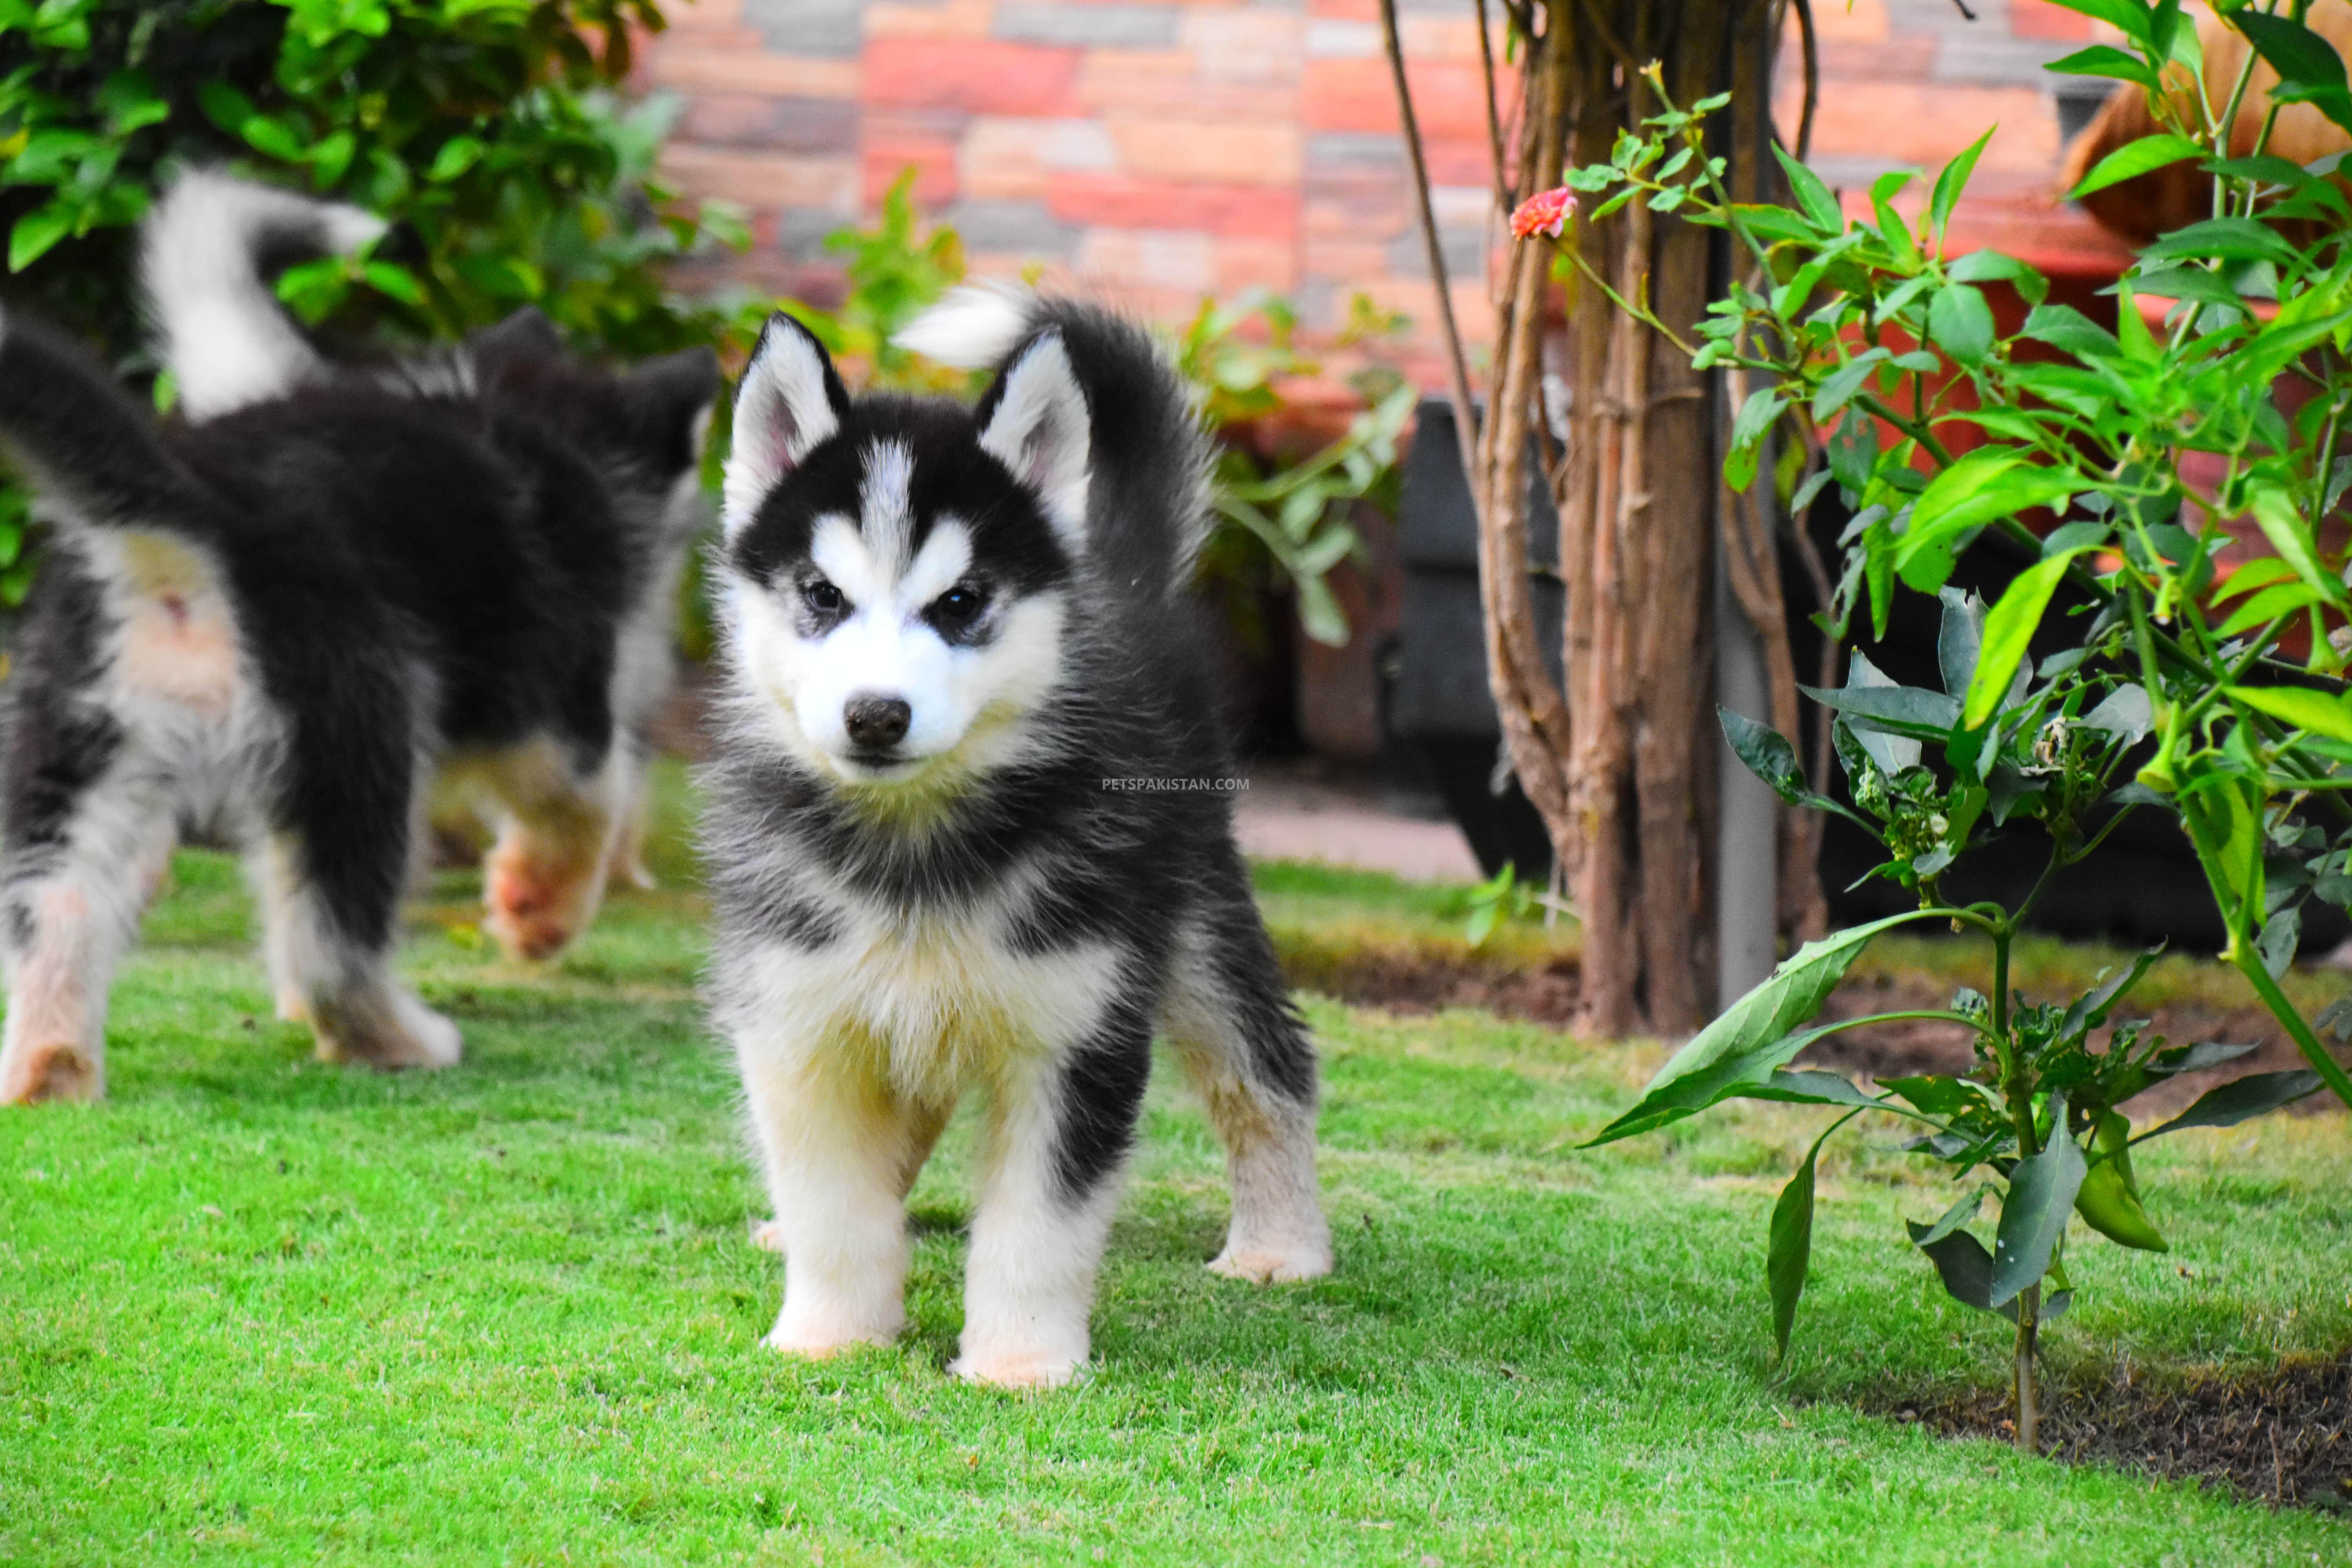
<path id="1" fill-rule="evenodd" d="M 1058 1056 L 1096 1030 L 1120 985 L 1105 945 L 1018 947 L 1011 898 L 828 905 L 833 940 L 762 945 L 750 964 L 755 1048 L 858 1058 L 910 1098 L 946 1105 Z"/>

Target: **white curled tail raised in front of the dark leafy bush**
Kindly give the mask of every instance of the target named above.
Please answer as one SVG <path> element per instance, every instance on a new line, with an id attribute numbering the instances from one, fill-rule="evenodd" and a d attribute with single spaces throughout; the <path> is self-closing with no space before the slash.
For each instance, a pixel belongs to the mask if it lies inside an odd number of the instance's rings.
<path id="1" fill-rule="evenodd" d="M 212 169 L 181 174 L 139 233 L 139 282 L 186 416 L 228 414 L 320 376 L 325 362 L 270 292 L 266 263 L 348 256 L 381 233 L 383 219 L 358 207 Z"/>

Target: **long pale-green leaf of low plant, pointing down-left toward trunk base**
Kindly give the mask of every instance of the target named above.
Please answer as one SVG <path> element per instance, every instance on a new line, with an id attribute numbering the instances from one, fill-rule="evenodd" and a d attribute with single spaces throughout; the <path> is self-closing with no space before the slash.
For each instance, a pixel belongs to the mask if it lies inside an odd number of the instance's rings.
<path id="1" fill-rule="evenodd" d="M 1790 1030 L 1820 1011 L 1863 947 L 1882 931 L 1915 919 L 1936 919 L 1936 912 L 1905 910 L 1865 926 L 1849 926 L 1792 952 L 1762 985 L 1693 1034 L 1658 1070 L 1632 1110 L 1581 1147 L 1646 1133 L 1729 1098 L 1740 1084 L 1762 1084 L 1773 1067 L 1792 1060 L 1816 1039 L 1816 1034 L 1792 1034 Z"/>

